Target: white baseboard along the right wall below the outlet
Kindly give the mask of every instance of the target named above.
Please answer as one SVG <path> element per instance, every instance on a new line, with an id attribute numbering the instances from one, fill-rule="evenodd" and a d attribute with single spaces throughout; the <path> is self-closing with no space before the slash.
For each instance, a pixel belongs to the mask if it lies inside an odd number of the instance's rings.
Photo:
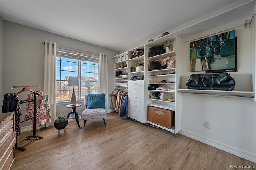
<path id="1" fill-rule="evenodd" d="M 178 133 L 180 133 L 181 135 L 184 135 L 186 137 L 190 137 L 192 139 L 195 139 L 196 141 L 200 141 L 202 143 L 205 143 L 207 145 L 210 145 L 212 147 L 218 148 L 220 150 L 224 150 L 225 152 L 228 152 L 230 154 L 234 154 L 236 156 L 239 156 L 240 158 L 244 158 L 246 160 L 249 160 L 251 162 L 256 163 L 256 155 L 253 155 L 250 152 L 246 152 L 244 150 L 232 147 L 230 145 L 226 145 L 224 143 L 220 143 L 218 141 L 214 141 L 212 139 L 203 137 L 201 135 L 197 135 L 195 133 L 186 131 L 186 130 L 181 130 Z"/>

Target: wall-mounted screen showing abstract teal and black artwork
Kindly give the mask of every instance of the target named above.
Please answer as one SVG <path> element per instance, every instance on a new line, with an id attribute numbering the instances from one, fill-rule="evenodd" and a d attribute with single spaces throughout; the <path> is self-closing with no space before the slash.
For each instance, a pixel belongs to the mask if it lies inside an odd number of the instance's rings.
<path id="1" fill-rule="evenodd" d="M 190 42 L 190 72 L 236 72 L 235 30 Z"/>

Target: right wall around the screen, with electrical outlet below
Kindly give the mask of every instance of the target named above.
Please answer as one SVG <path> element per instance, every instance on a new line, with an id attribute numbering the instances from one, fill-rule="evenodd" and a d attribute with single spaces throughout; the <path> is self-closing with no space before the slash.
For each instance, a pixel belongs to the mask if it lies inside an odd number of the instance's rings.
<path id="1" fill-rule="evenodd" d="M 244 21 L 241 22 L 242 24 Z M 241 23 L 231 23 L 182 39 L 182 88 L 189 72 L 189 42 L 225 30 L 236 30 L 238 37 L 238 72 L 230 72 L 236 81 L 236 91 L 253 91 L 252 29 Z M 210 129 L 203 122 L 210 122 Z M 182 133 L 219 149 L 256 161 L 256 102 L 246 98 L 227 98 L 182 94 Z"/>

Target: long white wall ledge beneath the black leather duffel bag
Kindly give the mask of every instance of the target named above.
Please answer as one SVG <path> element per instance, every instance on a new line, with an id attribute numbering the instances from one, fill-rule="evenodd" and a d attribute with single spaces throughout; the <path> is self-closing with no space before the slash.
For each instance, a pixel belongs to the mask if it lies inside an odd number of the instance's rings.
<path id="1" fill-rule="evenodd" d="M 255 92 L 252 91 L 194 90 L 178 88 L 177 92 L 186 94 L 222 96 L 230 98 L 255 98 Z"/>

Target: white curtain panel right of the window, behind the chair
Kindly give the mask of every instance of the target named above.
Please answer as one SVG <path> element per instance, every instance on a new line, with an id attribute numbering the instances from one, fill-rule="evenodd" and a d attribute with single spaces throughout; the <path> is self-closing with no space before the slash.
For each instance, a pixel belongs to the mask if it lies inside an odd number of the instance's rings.
<path id="1" fill-rule="evenodd" d="M 98 93 L 106 94 L 106 110 L 108 110 L 108 54 L 99 54 L 99 76 L 98 76 Z"/>

